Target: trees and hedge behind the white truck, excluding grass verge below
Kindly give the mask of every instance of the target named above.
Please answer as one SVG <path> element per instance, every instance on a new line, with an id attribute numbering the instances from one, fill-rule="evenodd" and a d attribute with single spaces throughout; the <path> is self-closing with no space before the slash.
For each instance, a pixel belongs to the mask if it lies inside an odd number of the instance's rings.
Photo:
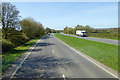
<path id="1" fill-rule="evenodd" d="M 82 26 L 77 25 L 74 28 L 72 27 L 65 27 L 64 33 L 66 34 L 76 34 L 76 30 L 85 30 L 88 34 L 90 33 L 118 33 L 120 28 L 107 28 L 107 29 L 94 29 L 89 25 Z"/>

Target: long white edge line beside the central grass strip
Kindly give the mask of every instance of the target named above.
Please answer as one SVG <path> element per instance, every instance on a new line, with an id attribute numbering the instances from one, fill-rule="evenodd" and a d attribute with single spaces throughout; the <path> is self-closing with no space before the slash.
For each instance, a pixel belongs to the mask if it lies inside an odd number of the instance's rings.
<path id="1" fill-rule="evenodd" d="M 55 37 L 56 38 L 56 37 Z M 97 63 L 95 63 L 94 61 L 88 59 L 86 56 L 80 54 L 78 51 L 76 51 L 74 48 L 68 46 L 66 43 L 64 43 L 63 41 L 61 41 L 60 39 L 56 38 L 57 40 L 59 40 L 60 42 L 62 42 L 64 45 L 66 45 L 67 47 L 69 47 L 70 49 L 72 49 L 73 51 L 75 51 L 76 53 L 78 53 L 79 55 L 81 55 L 82 57 L 84 57 L 85 59 L 89 60 L 90 62 L 92 62 L 93 64 L 95 64 L 96 66 L 98 66 L 99 68 L 101 68 L 102 70 L 106 71 L 107 73 L 111 74 L 112 76 L 114 76 L 115 78 L 118 78 L 116 75 L 112 74 L 111 72 L 109 72 L 108 70 L 104 69 L 103 67 L 101 67 L 100 65 L 98 65 Z"/>

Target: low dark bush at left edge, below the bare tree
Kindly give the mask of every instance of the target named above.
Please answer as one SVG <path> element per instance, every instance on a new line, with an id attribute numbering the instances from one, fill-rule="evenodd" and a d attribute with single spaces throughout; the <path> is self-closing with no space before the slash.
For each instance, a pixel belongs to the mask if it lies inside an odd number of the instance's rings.
<path id="1" fill-rule="evenodd" d="M 13 49 L 13 45 L 10 41 L 2 39 L 2 52 L 8 52 L 9 50 Z"/>

